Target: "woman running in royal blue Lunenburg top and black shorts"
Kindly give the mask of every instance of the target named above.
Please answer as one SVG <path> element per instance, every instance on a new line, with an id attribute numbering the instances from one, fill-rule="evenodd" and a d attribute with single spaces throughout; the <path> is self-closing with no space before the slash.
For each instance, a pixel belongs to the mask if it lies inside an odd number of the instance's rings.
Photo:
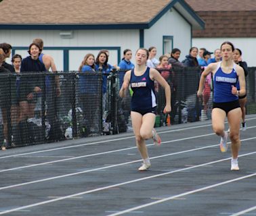
<path id="1" fill-rule="evenodd" d="M 211 63 L 207 66 L 200 78 L 197 95 L 202 97 L 202 88 L 205 83 L 205 78 L 211 72 L 213 73 L 214 81 L 214 96 L 212 110 L 213 131 L 218 136 L 221 136 L 219 143 L 221 152 L 228 150 L 228 133 L 225 132 L 224 121 L 228 117 L 230 126 L 230 141 L 231 141 L 231 170 L 239 170 L 238 167 L 238 151 L 240 148 L 240 119 L 242 116 L 238 96 L 243 96 L 246 93 L 245 80 L 243 69 L 234 63 L 232 57 L 234 45 L 230 42 L 224 42 L 221 45 L 222 61 Z M 236 88 L 236 83 L 239 81 L 240 90 Z"/>

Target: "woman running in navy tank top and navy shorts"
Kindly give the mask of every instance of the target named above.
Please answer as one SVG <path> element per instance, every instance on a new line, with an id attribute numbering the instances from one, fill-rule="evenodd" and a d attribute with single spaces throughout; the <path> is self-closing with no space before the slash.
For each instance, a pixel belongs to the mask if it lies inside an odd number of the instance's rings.
<path id="1" fill-rule="evenodd" d="M 123 85 L 120 89 L 120 97 L 125 97 L 126 91 L 131 84 L 133 96 L 131 99 L 131 122 L 135 134 L 136 145 L 142 156 L 143 163 L 140 171 L 150 167 L 150 159 L 145 140 L 153 138 L 155 144 L 161 144 L 161 138 L 154 130 L 156 119 L 156 96 L 154 94 L 154 80 L 165 88 L 166 106 L 165 113 L 171 112 L 171 90 L 169 84 L 154 68 L 148 68 L 147 49 L 138 49 L 136 52 L 136 64 L 134 70 L 125 74 Z"/>

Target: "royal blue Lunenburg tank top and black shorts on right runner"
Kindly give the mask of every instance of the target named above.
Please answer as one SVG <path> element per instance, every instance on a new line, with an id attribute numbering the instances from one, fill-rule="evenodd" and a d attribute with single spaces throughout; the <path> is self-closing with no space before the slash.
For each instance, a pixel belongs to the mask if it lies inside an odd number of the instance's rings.
<path id="1" fill-rule="evenodd" d="M 217 71 L 213 77 L 213 109 L 223 109 L 223 111 L 226 111 L 226 114 L 228 114 L 232 109 L 240 107 L 238 96 L 232 94 L 232 86 L 236 86 L 237 82 L 238 75 L 236 74 L 236 64 L 234 63 L 232 72 L 226 74 L 221 70 L 220 61 L 217 66 Z"/>

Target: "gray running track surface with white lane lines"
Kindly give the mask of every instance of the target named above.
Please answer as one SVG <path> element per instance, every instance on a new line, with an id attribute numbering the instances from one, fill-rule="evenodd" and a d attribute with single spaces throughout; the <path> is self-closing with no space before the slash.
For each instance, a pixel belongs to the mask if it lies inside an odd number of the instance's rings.
<path id="1" fill-rule="evenodd" d="M 2 151 L 0 215 L 256 215 L 256 115 L 247 126 L 240 171 L 211 121 L 156 128 L 148 171 L 132 133 Z"/>

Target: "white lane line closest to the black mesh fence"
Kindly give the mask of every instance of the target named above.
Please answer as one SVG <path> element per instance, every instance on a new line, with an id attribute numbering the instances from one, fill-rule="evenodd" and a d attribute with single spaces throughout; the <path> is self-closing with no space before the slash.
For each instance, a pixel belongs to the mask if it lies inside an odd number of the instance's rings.
<path id="1" fill-rule="evenodd" d="M 256 119 L 256 117 L 251 117 L 251 118 L 247 118 L 247 121 Z M 205 128 L 207 126 L 212 126 L 211 124 L 205 124 L 202 126 L 193 126 L 193 127 L 188 127 L 188 128 L 178 128 L 175 130 L 167 130 L 167 131 L 163 131 L 163 132 L 158 132 L 158 134 L 165 134 L 165 133 L 171 133 L 171 132 L 179 132 L 179 131 L 183 131 L 183 130 L 190 130 L 190 129 L 196 129 L 196 128 Z M 247 129 L 250 128 L 255 128 L 255 127 L 247 127 Z M 76 144 L 76 145 L 72 145 L 72 146 L 65 146 L 65 147 L 59 147 L 59 148 L 51 148 L 51 149 L 46 149 L 46 150 L 41 150 L 41 151 L 33 151 L 30 153 L 20 153 L 20 154 L 16 154 L 16 155 L 7 155 L 7 156 L 3 156 L 0 157 L 0 159 L 5 159 L 8 157 L 17 157 L 17 156 L 21 156 L 21 155 L 31 155 L 31 154 L 37 154 L 37 153 L 45 153 L 45 152 L 49 152 L 49 151 L 58 151 L 58 150 L 62 150 L 62 149 L 66 149 L 66 148 L 75 148 L 75 147 L 80 147 L 80 146 L 87 146 L 87 145 L 92 145 L 92 144 L 101 144 L 104 142 L 113 142 L 113 141 L 119 141 L 119 140 L 127 140 L 130 138 L 135 138 L 135 136 L 127 136 L 124 138 L 116 138 L 116 139 L 112 139 L 112 140 L 103 140 L 103 141 L 98 141 L 98 142 L 90 142 L 90 143 L 85 143 L 85 144 Z"/>

